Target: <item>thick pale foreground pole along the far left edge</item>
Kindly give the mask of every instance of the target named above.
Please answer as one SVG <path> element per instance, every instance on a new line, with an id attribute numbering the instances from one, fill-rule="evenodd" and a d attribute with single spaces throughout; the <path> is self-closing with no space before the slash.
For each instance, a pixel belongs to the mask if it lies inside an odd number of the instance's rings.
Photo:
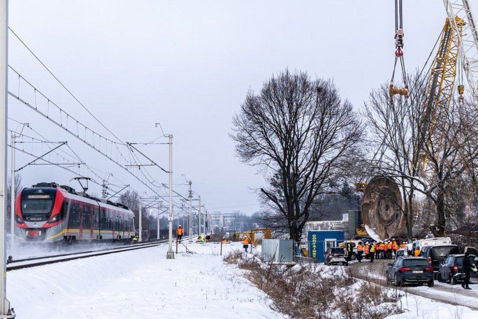
<path id="1" fill-rule="evenodd" d="M 8 0 L 0 0 L 0 318 L 14 318 L 7 300 L 7 256 L 5 247 L 5 212 L 7 211 L 7 65 L 8 65 Z"/>

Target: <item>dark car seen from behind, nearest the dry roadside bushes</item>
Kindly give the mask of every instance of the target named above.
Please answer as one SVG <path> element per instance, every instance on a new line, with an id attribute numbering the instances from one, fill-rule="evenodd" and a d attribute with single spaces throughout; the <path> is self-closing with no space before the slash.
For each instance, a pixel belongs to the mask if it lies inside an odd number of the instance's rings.
<path id="1" fill-rule="evenodd" d="M 428 287 L 433 287 L 434 284 L 433 268 L 422 257 L 397 257 L 393 264 L 387 264 L 386 278 L 395 286 L 426 283 Z"/>

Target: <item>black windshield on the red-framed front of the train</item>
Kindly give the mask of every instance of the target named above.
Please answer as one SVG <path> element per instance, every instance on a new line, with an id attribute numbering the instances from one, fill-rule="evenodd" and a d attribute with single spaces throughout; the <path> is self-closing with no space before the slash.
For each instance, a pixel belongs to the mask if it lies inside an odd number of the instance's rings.
<path id="1" fill-rule="evenodd" d="M 48 220 L 55 201 L 56 188 L 30 188 L 22 192 L 22 217 L 26 221 Z"/>

